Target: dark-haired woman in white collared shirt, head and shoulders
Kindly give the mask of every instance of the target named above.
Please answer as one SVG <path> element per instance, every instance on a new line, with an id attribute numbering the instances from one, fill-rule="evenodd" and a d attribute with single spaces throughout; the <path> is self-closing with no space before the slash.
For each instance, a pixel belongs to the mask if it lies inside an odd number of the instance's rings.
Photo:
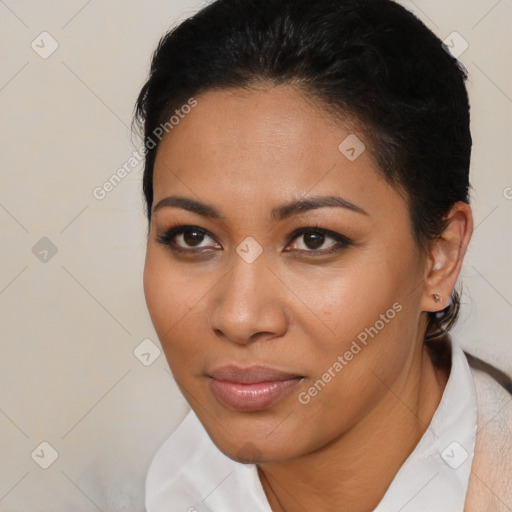
<path id="1" fill-rule="evenodd" d="M 389 0 L 218 0 L 161 40 L 144 290 L 192 410 L 150 512 L 512 507 L 509 381 L 448 334 L 465 78 Z"/>

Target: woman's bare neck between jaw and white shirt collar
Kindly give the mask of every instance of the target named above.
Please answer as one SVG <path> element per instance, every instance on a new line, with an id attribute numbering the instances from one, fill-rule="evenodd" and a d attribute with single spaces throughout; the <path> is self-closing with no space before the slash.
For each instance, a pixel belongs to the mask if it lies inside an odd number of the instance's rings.
<path id="1" fill-rule="evenodd" d="M 385 398 L 349 431 L 300 458 L 260 465 L 272 511 L 372 511 L 428 428 L 448 375 L 421 345 Z"/>

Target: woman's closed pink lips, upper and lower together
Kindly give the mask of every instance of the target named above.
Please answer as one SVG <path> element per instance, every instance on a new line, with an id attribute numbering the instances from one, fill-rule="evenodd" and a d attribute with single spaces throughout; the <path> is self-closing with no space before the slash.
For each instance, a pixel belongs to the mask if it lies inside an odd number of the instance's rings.
<path id="1" fill-rule="evenodd" d="M 255 412 L 268 409 L 288 395 L 304 379 L 267 366 L 224 366 L 209 375 L 215 398 L 228 409 Z"/>

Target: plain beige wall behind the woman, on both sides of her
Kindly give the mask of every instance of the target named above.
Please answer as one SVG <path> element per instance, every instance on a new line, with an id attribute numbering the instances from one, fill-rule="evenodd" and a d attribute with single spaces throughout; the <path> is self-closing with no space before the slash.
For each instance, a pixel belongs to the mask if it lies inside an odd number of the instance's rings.
<path id="1" fill-rule="evenodd" d="M 159 37 L 200 5 L 0 0 L 1 511 L 143 510 L 151 456 L 187 411 L 163 354 L 154 359 L 141 166 L 103 200 L 93 189 L 131 156 Z M 455 334 L 512 372 L 512 1 L 404 5 L 469 44 L 476 230 Z M 31 47 L 51 49 L 43 31 L 58 43 L 46 59 Z M 55 255 L 36 245 L 43 237 Z M 145 366 L 134 350 L 148 338 Z M 58 453 L 48 469 L 42 442 Z"/>

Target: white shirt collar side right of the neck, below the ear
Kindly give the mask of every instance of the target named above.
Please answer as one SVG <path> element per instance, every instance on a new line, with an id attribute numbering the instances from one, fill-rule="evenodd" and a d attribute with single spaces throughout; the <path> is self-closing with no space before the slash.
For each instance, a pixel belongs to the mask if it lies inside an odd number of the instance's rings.
<path id="1" fill-rule="evenodd" d="M 441 402 L 374 512 L 464 510 L 477 432 L 477 397 L 466 356 L 451 342 Z"/>

